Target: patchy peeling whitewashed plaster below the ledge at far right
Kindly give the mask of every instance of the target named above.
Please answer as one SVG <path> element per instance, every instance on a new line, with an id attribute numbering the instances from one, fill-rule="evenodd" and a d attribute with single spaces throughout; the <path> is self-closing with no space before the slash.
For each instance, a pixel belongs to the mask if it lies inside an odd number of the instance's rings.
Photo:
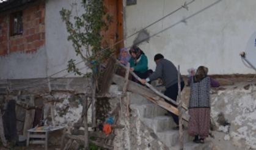
<path id="1" fill-rule="evenodd" d="M 249 84 L 249 83 L 248 83 Z M 211 116 L 216 123 L 216 145 L 233 149 L 256 149 L 256 84 L 235 85 L 212 95 Z M 229 125 L 218 123 L 223 113 Z M 230 141 L 230 142 L 229 142 Z M 222 143 L 220 145 L 219 143 Z"/>

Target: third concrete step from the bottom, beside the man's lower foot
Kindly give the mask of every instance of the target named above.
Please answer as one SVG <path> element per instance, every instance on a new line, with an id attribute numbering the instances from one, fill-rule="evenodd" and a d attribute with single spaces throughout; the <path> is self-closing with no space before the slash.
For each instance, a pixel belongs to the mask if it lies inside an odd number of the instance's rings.
<path id="1" fill-rule="evenodd" d="M 153 118 L 142 118 L 142 122 L 146 126 L 154 130 L 154 132 L 160 132 L 163 130 L 170 130 L 175 127 L 174 120 L 170 116 L 156 116 Z"/>

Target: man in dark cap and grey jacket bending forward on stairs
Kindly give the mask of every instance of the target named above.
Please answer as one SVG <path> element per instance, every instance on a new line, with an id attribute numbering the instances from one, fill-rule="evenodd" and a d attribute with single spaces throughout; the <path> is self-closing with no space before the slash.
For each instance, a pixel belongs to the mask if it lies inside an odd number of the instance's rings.
<path id="1" fill-rule="evenodd" d="M 146 82 L 161 79 L 163 81 L 163 84 L 166 87 L 166 91 L 164 91 L 164 95 L 168 96 L 170 99 L 173 99 L 174 101 L 177 100 L 178 96 L 178 71 L 177 68 L 174 66 L 172 62 L 170 62 L 167 59 L 164 59 L 164 56 L 162 54 L 156 54 L 154 57 L 155 63 L 156 63 L 156 70 L 153 72 L 147 79 L 142 79 L 141 83 L 145 84 Z M 181 90 L 184 88 L 184 81 L 181 78 Z M 169 104 L 172 104 L 172 102 L 165 100 Z M 172 104 L 175 107 L 177 105 Z M 178 126 L 178 116 L 175 115 L 172 112 L 169 112 L 169 114 L 174 119 L 174 122 Z"/>

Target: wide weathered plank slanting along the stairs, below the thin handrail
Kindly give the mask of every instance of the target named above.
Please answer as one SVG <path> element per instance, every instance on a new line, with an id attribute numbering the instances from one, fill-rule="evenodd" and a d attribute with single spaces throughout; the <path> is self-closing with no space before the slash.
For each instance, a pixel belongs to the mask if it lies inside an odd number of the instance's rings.
<path id="1" fill-rule="evenodd" d="M 113 82 L 119 85 L 120 87 L 123 87 L 125 81 L 123 77 L 114 74 Z M 127 90 L 142 95 L 148 100 L 154 102 L 155 104 L 158 104 L 160 107 L 163 107 L 164 109 L 169 110 L 172 113 L 175 113 L 175 115 L 179 115 L 178 109 L 176 107 L 164 101 L 163 98 L 160 98 L 158 95 L 156 95 L 156 93 L 153 93 L 152 90 L 148 89 L 147 87 L 144 87 L 142 85 L 137 84 L 136 82 L 129 80 Z M 186 115 L 183 115 L 182 118 L 185 121 L 188 121 L 189 119 L 188 116 Z"/>

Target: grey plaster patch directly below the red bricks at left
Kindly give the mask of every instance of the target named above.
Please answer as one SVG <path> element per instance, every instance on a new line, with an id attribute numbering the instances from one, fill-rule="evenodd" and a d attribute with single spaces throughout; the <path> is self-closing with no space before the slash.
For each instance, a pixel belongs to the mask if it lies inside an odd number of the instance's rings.
<path id="1" fill-rule="evenodd" d="M 46 76 L 46 52 L 42 46 L 34 53 L 12 52 L 0 57 L 0 79 L 27 79 Z"/>

